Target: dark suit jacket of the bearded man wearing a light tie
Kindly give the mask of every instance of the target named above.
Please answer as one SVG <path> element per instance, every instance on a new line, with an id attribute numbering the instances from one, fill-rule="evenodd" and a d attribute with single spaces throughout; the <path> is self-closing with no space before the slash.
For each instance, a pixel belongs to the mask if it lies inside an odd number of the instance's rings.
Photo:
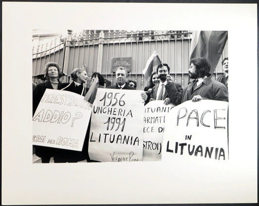
<path id="1" fill-rule="evenodd" d="M 151 90 L 151 98 L 156 99 L 156 93 L 158 89 L 159 84 L 155 85 Z M 164 99 L 169 98 L 170 102 L 178 105 L 181 103 L 181 96 L 182 96 L 182 86 L 177 83 L 177 86 L 174 82 L 167 82 L 165 86 L 165 94 Z"/>

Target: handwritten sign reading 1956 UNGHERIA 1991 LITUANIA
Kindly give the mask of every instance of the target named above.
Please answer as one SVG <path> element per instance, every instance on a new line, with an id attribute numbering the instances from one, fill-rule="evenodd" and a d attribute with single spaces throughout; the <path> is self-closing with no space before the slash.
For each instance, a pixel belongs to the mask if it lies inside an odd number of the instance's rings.
<path id="1" fill-rule="evenodd" d="M 90 159 L 142 160 L 144 104 L 141 92 L 98 88 L 91 117 Z"/>

